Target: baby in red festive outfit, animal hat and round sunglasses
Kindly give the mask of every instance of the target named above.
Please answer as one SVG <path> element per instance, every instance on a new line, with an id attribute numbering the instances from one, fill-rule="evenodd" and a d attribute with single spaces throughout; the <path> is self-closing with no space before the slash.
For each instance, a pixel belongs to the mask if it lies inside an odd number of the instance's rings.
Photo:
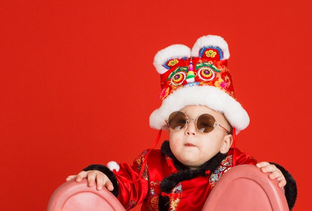
<path id="1" fill-rule="evenodd" d="M 160 74 L 162 105 L 150 117 L 150 125 L 166 128 L 169 141 L 161 150 L 146 150 L 133 166 L 110 162 L 108 167 L 91 165 L 66 180 L 88 178 L 118 197 L 130 210 L 144 203 L 143 211 L 201 210 L 211 189 L 231 167 L 257 164 L 262 172 L 272 172 L 280 188 L 286 185 L 290 208 L 297 188 L 283 167 L 257 161 L 235 148 L 235 135 L 249 124 L 249 116 L 236 101 L 227 67 L 229 51 L 223 38 L 199 38 L 194 47 L 172 45 L 159 51 L 154 60 Z M 158 140 L 156 140 L 157 142 Z M 234 142 L 234 148 L 230 148 Z M 154 144 L 154 146 L 156 143 Z M 295 194 L 294 197 L 289 196 Z"/>

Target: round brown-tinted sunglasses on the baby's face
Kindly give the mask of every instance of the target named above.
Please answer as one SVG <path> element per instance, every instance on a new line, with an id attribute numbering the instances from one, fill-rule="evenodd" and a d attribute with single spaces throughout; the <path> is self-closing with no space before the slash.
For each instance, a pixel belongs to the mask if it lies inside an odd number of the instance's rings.
<path id="1" fill-rule="evenodd" d="M 168 120 L 165 120 L 165 122 L 171 129 L 180 130 L 187 126 L 189 120 L 195 120 L 197 130 L 202 133 L 211 132 L 215 125 L 217 125 L 224 129 L 228 134 L 232 134 L 220 124 L 217 124 L 215 118 L 208 113 L 201 114 L 197 119 L 191 119 L 187 118 L 182 111 L 174 111 L 169 115 Z"/>

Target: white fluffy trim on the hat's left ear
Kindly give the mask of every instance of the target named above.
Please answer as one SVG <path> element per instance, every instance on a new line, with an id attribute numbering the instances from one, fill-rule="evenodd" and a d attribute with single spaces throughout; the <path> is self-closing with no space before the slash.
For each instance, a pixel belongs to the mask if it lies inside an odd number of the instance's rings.
<path id="1" fill-rule="evenodd" d="M 185 45 L 176 44 L 170 45 L 156 53 L 154 57 L 154 66 L 159 74 L 164 74 L 168 71 L 162 65 L 169 59 L 181 59 L 183 57 L 189 58 L 191 56 L 191 49 Z"/>

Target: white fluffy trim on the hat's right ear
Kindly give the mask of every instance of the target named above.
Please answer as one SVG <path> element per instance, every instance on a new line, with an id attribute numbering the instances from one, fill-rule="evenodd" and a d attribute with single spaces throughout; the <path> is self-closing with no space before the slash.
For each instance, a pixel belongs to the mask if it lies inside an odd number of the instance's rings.
<path id="1" fill-rule="evenodd" d="M 223 51 L 222 60 L 230 58 L 229 47 L 226 41 L 222 37 L 217 35 L 207 35 L 198 38 L 192 48 L 191 56 L 198 57 L 199 50 L 207 46 L 215 46 L 221 48 L 221 50 Z"/>

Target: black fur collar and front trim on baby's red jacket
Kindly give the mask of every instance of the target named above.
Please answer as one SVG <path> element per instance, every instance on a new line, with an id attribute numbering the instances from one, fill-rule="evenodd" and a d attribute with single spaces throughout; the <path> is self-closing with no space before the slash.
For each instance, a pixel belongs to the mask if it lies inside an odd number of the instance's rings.
<path id="1" fill-rule="evenodd" d="M 199 176 L 209 176 L 210 172 L 213 173 L 216 168 L 220 165 L 221 161 L 226 157 L 227 154 L 218 153 L 206 163 L 202 164 L 198 169 L 189 169 L 179 162 L 173 155 L 169 141 L 164 141 L 160 148 L 163 155 L 167 155 L 173 159 L 175 168 L 179 171 L 171 174 L 164 178 L 160 185 L 160 191 L 168 194 L 171 190 L 180 182 L 185 180 L 191 180 Z M 209 173 L 207 171 L 210 171 Z M 207 172 L 207 173 L 206 173 Z M 168 211 L 169 209 L 169 198 L 167 196 L 159 195 L 158 202 L 159 211 Z"/>

